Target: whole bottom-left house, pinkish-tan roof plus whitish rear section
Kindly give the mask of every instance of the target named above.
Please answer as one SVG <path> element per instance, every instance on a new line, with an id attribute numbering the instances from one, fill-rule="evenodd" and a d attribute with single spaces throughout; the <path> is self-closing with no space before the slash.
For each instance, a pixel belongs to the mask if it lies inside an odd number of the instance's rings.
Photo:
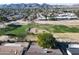
<path id="1" fill-rule="evenodd" d="M 0 55 L 22 55 L 24 49 L 29 46 L 28 42 L 2 43 L 0 45 Z"/>

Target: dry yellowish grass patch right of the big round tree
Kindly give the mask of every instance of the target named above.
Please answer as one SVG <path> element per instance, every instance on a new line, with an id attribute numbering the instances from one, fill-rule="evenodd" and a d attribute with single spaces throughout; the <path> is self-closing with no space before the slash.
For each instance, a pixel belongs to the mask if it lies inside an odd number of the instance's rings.
<path id="1" fill-rule="evenodd" d="M 53 35 L 62 41 L 79 42 L 79 33 L 53 33 Z"/>

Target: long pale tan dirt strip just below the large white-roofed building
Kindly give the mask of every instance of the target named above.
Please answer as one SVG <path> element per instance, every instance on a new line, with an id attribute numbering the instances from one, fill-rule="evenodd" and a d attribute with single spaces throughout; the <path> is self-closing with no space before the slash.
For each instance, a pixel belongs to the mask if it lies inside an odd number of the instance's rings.
<path id="1" fill-rule="evenodd" d="M 79 20 L 61 20 L 61 21 L 34 21 L 38 24 L 53 24 L 53 25 L 79 25 Z"/>

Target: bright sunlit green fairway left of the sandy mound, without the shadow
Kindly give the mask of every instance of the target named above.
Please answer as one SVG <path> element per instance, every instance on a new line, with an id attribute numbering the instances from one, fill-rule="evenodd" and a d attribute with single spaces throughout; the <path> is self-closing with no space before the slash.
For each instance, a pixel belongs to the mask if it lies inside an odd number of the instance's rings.
<path id="1" fill-rule="evenodd" d="M 8 31 L 8 34 L 14 34 L 15 36 L 21 37 L 21 36 L 25 36 L 25 34 L 27 33 L 28 30 L 28 26 L 27 25 L 23 25 L 21 27 L 18 27 L 12 31 Z"/>

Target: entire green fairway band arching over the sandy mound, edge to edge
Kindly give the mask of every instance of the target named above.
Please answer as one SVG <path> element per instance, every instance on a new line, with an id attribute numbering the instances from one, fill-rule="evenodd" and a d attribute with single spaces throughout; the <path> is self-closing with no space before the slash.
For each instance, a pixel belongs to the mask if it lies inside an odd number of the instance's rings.
<path id="1" fill-rule="evenodd" d="M 25 36 L 29 28 L 44 29 L 54 33 L 78 33 L 79 27 L 68 27 L 65 25 L 41 25 L 41 24 L 28 24 L 21 26 L 7 26 L 0 29 L 0 35 L 12 34 L 18 37 Z"/>

